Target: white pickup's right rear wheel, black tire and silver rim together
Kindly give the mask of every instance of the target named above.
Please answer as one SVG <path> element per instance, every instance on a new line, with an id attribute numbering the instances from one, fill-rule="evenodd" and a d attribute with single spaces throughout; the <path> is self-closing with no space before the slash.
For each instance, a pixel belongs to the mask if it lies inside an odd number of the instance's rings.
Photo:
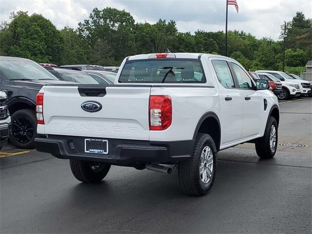
<path id="1" fill-rule="evenodd" d="M 212 137 L 199 133 L 193 156 L 179 162 L 178 175 L 183 191 L 188 195 L 207 194 L 215 180 L 216 147 Z"/>

